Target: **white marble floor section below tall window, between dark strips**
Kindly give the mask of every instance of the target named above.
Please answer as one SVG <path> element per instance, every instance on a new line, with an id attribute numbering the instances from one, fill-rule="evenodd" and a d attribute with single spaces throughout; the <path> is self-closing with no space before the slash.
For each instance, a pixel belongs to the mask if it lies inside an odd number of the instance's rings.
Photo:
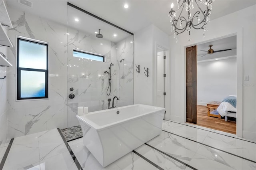
<path id="1" fill-rule="evenodd" d="M 14 138 L 3 170 L 77 170 L 57 129 Z"/>

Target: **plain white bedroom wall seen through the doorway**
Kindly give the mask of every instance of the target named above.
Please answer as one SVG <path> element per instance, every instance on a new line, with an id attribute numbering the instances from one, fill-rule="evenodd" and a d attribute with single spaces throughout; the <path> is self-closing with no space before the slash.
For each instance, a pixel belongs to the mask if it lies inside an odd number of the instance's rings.
<path id="1" fill-rule="evenodd" d="M 236 95 L 236 58 L 197 63 L 197 103 Z"/>

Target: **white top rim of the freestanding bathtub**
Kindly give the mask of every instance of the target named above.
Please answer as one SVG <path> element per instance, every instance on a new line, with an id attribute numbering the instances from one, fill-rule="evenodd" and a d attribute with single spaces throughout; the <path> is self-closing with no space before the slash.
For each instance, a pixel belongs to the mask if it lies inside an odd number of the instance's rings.
<path id="1" fill-rule="evenodd" d="M 143 105 L 143 104 L 135 104 L 135 105 L 116 107 L 116 108 L 111 109 L 111 110 L 110 109 L 105 109 L 105 110 L 101 110 L 101 111 L 94 111 L 94 112 L 88 113 L 88 115 L 97 114 L 97 113 L 106 112 L 106 111 L 117 111 L 118 109 L 123 109 L 123 108 L 131 107 L 131 106 L 139 106 L 139 105 L 146 106 L 146 107 L 156 107 L 159 110 L 152 111 L 152 112 L 146 112 L 146 113 L 143 113 L 142 115 L 134 116 L 134 117 L 131 117 L 131 118 L 127 118 L 127 119 L 124 119 L 124 120 L 121 120 L 121 121 L 117 121 L 117 122 L 114 122 L 114 123 L 110 123 L 110 124 L 107 124 L 107 125 L 103 125 L 103 126 L 97 125 L 93 121 L 90 121 L 90 119 L 85 120 L 84 118 L 86 118 L 86 115 L 76 115 L 76 117 L 78 119 L 80 119 L 81 121 L 83 121 L 84 123 L 86 123 L 91 128 L 95 129 L 96 131 L 102 131 L 102 130 L 104 130 L 106 128 L 114 127 L 114 126 L 120 125 L 120 124 L 122 124 L 124 122 L 129 122 L 129 121 L 133 121 L 134 119 L 138 119 L 140 117 L 144 117 L 145 115 L 152 115 L 152 114 L 154 114 L 156 112 L 161 112 L 161 111 L 165 111 L 166 110 L 163 107 L 157 107 L 157 106 L 151 106 L 151 105 Z"/>

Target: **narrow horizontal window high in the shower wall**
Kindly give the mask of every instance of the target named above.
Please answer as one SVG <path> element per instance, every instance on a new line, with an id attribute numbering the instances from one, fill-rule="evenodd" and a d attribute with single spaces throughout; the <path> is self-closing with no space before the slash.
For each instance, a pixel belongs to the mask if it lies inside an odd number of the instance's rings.
<path id="1" fill-rule="evenodd" d="M 92 59 L 95 61 L 102 61 L 104 62 L 104 55 L 91 53 L 88 51 L 77 51 L 73 49 L 73 57 L 85 58 L 85 59 Z"/>

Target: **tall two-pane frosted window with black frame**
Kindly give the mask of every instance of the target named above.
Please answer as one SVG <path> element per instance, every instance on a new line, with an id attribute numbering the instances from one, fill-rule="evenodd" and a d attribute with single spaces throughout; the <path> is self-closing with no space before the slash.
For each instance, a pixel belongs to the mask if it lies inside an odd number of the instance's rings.
<path id="1" fill-rule="evenodd" d="M 17 99 L 48 98 L 48 44 L 17 39 Z"/>

